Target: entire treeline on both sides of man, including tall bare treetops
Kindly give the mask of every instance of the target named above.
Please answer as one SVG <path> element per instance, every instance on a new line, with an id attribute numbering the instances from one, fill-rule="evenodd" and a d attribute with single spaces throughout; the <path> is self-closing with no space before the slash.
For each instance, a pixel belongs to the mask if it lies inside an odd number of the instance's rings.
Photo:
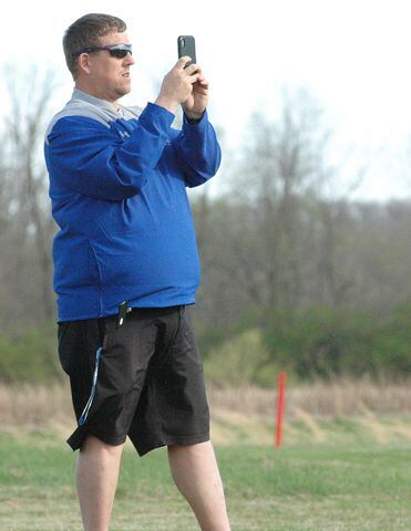
<path id="1" fill-rule="evenodd" d="M 31 81 L 27 100 L 11 93 L 0 144 L 7 382 L 63 375 L 51 263 L 58 227 L 42 162 L 52 85 Z M 224 191 L 212 197 L 205 185 L 192 195 L 203 273 L 193 313 L 217 383 L 271 385 L 282 369 L 297 379 L 411 371 L 411 201 L 352 200 L 367 168 L 341 188 L 323 121 L 306 95 L 286 101 L 274 118 L 256 114 L 240 155 L 226 153 L 215 177 Z"/>

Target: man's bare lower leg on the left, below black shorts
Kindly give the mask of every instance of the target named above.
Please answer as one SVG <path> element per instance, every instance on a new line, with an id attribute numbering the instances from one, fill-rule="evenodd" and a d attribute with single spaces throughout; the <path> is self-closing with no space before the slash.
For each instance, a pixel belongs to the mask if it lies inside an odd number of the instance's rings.
<path id="1" fill-rule="evenodd" d="M 76 462 L 76 487 L 84 531 L 107 531 L 124 445 L 88 436 Z"/>

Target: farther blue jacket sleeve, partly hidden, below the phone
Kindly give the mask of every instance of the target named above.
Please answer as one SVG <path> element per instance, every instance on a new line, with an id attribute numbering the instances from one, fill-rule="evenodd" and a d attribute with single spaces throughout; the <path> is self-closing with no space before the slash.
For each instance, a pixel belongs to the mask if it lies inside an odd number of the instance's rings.
<path id="1" fill-rule="evenodd" d="M 178 162 L 184 171 L 186 186 L 203 185 L 213 177 L 222 162 L 222 150 L 207 111 L 196 124 L 189 124 L 184 116 L 183 129 L 172 140 Z"/>

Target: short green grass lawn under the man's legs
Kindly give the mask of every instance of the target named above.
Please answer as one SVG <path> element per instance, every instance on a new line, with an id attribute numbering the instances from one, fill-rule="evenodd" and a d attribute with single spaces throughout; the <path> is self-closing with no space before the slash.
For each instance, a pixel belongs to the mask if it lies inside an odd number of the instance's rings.
<path id="1" fill-rule="evenodd" d="M 411 529 L 411 445 L 216 447 L 233 531 Z M 51 431 L 0 435 L 0 529 L 81 530 L 75 454 Z M 198 529 L 166 451 L 126 448 L 112 531 Z"/>

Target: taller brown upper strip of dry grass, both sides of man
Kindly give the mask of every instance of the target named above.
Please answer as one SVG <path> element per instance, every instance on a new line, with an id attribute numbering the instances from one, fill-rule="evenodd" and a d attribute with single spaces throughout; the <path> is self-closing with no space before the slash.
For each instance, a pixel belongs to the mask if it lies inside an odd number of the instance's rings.
<path id="1" fill-rule="evenodd" d="M 230 412 L 256 419 L 273 418 L 276 389 L 244 386 L 208 387 L 212 410 Z M 331 383 L 288 386 L 286 417 L 305 414 L 327 419 L 350 416 L 411 415 L 411 382 L 376 384 L 368 379 L 339 379 Z M 20 384 L 0 385 L 0 426 L 64 425 L 73 417 L 68 383 L 49 386 Z"/>

